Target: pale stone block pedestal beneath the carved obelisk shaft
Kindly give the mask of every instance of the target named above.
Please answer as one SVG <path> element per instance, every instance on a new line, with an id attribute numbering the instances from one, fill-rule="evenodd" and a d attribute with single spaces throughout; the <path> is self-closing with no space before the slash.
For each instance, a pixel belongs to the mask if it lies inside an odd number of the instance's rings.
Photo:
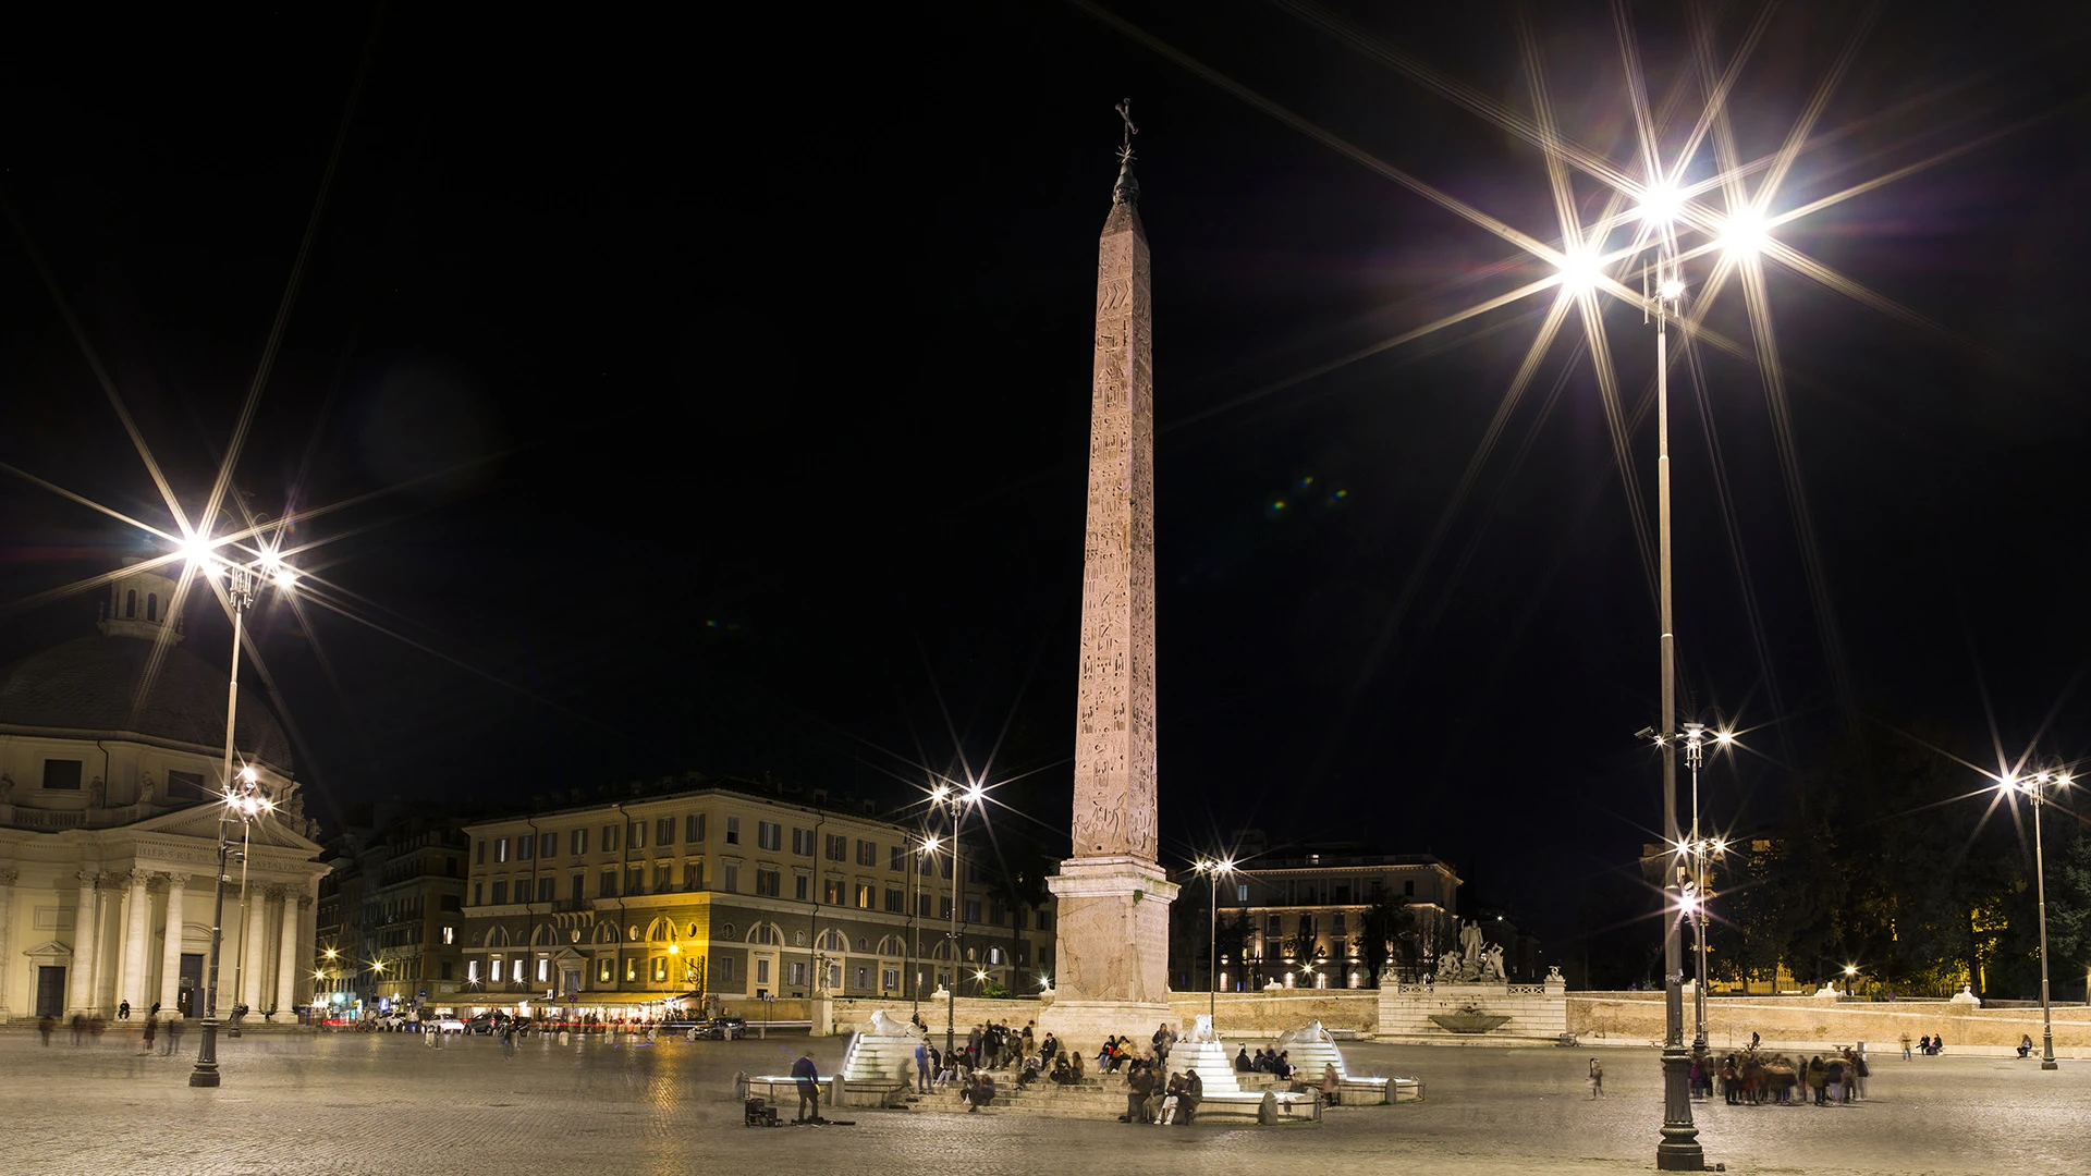
<path id="1" fill-rule="evenodd" d="M 1169 1011 L 1169 904 L 1177 883 L 1142 858 L 1069 858 L 1056 904 L 1054 1000 L 1039 1030 L 1094 1053 L 1110 1034 L 1154 1036 Z"/>

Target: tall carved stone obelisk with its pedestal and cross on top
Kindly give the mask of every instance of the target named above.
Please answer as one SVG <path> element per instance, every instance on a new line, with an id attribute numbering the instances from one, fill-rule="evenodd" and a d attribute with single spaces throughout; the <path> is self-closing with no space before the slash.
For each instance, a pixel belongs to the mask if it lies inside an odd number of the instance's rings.
<path id="1" fill-rule="evenodd" d="M 1075 856 L 1058 900 L 1054 1002 L 1039 1027 L 1089 1048 L 1169 1021 L 1169 902 L 1154 862 L 1154 316 L 1133 121 L 1096 262 L 1089 534 L 1075 718 Z"/>

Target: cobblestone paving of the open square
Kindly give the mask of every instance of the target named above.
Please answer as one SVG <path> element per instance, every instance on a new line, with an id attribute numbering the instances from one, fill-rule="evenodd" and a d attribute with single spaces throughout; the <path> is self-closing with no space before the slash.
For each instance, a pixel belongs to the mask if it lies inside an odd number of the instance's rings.
<path id="1" fill-rule="evenodd" d="M 194 1034 L 186 1040 L 194 1046 Z M 1428 1101 L 1334 1109 L 1305 1128 L 1129 1128 L 1018 1115 L 849 1109 L 857 1126 L 751 1130 L 736 1069 L 782 1071 L 807 1040 L 558 1046 L 408 1034 L 224 1042 L 224 1086 L 111 1032 L 0 1032 L 6 1174 L 912 1174 L 960 1172 L 1646 1172 L 1660 1117 L 1652 1050 L 1347 1048 L 1359 1073 L 1414 1073 Z M 841 1040 L 813 1040 L 832 1071 Z M 192 1048 L 188 1050 L 192 1055 Z M 1581 1073 L 1604 1059 L 1606 1099 Z M 1698 1107 L 1729 1172 L 2047 1174 L 2091 1170 L 2091 1061 L 1884 1057 L 1855 1107 Z M 788 1117 L 790 1111 L 786 1111 Z"/>

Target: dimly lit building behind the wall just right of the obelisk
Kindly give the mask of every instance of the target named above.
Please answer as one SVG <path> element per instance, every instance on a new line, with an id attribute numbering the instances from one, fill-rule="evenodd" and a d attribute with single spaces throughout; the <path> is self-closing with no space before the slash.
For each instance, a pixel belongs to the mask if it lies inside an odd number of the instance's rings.
<path id="1" fill-rule="evenodd" d="M 1347 843 L 1263 852 L 1250 835 L 1242 860 L 1219 894 L 1219 919 L 1242 925 L 1242 958 L 1219 960 L 1219 988 L 1372 988 L 1363 942 L 1374 906 L 1393 900 L 1414 921 L 1416 942 L 1388 944 L 1391 960 L 1434 954 L 1457 919 L 1460 875 L 1430 854 Z"/>

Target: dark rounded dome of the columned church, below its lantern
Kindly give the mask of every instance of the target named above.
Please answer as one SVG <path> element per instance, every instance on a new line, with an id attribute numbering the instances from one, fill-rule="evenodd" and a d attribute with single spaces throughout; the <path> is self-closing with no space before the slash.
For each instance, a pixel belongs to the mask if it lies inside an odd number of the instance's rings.
<path id="1" fill-rule="evenodd" d="M 151 657 L 153 642 L 134 636 L 84 636 L 29 655 L 0 670 L 0 728 L 222 749 L 226 672 L 169 644 L 153 688 L 138 699 Z M 291 774 L 291 741 L 261 697 L 245 686 L 232 747 Z"/>

